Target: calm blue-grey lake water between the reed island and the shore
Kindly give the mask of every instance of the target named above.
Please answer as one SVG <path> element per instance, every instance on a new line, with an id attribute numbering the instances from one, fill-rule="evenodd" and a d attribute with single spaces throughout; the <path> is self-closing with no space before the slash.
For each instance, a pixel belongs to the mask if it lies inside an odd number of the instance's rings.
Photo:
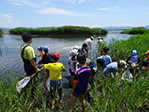
<path id="1" fill-rule="evenodd" d="M 109 42 L 112 38 L 120 40 L 120 39 L 128 39 L 130 35 L 120 34 L 120 31 L 109 31 L 106 36 L 103 37 L 105 42 Z M 88 37 L 71 37 L 71 36 L 50 36 L 48 38 L 38 37 L 33 38 L 32 47 L 35 50 L 35 53 L 38 55 L 37 51 L 38 46 L 48 46 L 50 48 L 49 52 L 59 52 L 60 53 L 60 62 L 62 62 L 67 70 L 67 72 L 63 73 L 63 75 L 68 74 L 68 58 L 69 51 L 73 48 L 74 45 L 81 46 L 83 41 Z M 20 46 L 23 41 L 21 36 L 18 35 L 9 35 L 4 34 L 0 37 L 0 47 L 2 49 L 2 56 L 0 56 L 0 77 L 5 77 L 4 74 L 18 74 L 20 76 L 25 75 L 23 69 L 23 62 L 20 57 Z M 96 55 L 96 43 L 97 38 L 94 38 L 92 42 L 92 56 Z M 39 59 L 37 59 L 39 60 Z M 10 73 L 12 72 L 12 73 Z"/>

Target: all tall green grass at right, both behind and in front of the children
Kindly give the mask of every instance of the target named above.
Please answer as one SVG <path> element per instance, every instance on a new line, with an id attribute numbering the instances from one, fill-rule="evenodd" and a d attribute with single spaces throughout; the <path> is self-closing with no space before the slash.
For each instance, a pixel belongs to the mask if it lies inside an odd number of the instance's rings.
<path id="1" fill-rule="evenodd" d="M 131 50 L 138 50 L 142 61 L 149 50 L 149 34 L 132 36 L 128 40 L 112 40 L 109 44 L 109 55 L 112 61 L 127 60 Z M 140 63 L 140 68 L 141 67 Z M 95 89 L 92 90 L 94 101 L 90 106 L 97 112 L 147 112 L 149 110 L 149 73 L 140 71 L 139 78 L 133 82 L 122 81 L 125 69 L 119 69 L 119 75 L 111 79 L 103 79 L 102 73 L 96 75 Z M 100 91 L 97 89 L 100 88 Z M 102 89 L 101 89 L 102 88 Z M 102 91 L 102 92 L 101 92 Z"/>

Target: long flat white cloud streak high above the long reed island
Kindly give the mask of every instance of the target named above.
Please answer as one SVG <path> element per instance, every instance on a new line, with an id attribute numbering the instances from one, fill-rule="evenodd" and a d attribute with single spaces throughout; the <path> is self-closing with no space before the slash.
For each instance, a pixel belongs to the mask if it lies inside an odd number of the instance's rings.
<path id="1" fill-rule="evenodd" d="M 35 12 L 38 14 L 44 14 L 44 15 L 56 14 L 56 15 L 85 16 L 84 14 L 68 11 L 65 9 L 54 8 L 54 7 L 35 10 Z"/>

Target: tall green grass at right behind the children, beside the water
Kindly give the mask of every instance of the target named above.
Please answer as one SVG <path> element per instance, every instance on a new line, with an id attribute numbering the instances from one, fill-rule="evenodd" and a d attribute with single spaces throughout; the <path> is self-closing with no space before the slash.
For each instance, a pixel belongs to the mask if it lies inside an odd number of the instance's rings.
<path id="1" fill-rule="evenodd" d="M 110 56 L 114 61 L 127 60 L 131 51 L 136 49 L 141 62 L 145 59 L 145 52 L 149 50 L 149 34 L 132 36 L 127 40 L 112 40 L 109 44 Z"/>

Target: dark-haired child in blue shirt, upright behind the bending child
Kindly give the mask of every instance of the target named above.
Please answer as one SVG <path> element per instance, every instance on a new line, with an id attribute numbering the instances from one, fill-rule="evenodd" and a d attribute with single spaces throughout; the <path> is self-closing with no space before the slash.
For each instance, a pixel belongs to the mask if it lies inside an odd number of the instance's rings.
<path id="1" fill-rule="evenodd" d="M 109 48 L 108 48 L 108 47 L 104 47 L 104 48 L 103 48 L 103 55 L 100 56 L 100 58 L 104 59 L 106 66 L 107 66 L 109 63 L 112 62 L 111 57 L 108 55 L 108 51 L 109 51 Z"/>

